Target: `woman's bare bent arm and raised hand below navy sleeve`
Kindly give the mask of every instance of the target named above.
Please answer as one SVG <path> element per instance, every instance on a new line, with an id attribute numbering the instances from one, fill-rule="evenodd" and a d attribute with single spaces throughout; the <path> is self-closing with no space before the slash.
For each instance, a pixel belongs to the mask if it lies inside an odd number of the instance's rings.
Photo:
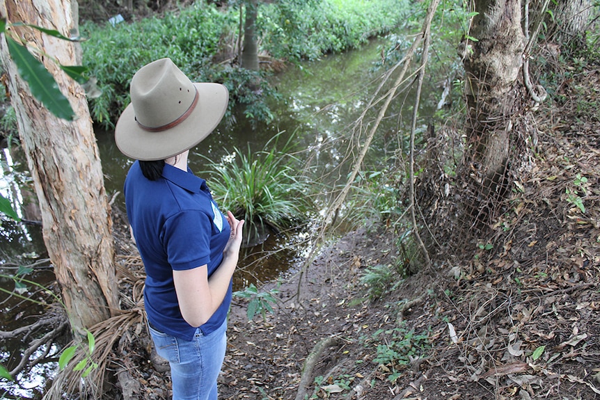
<path id="1" fill-rule="evenodd" d="M 231 227 L 231 235 L 223 250 L 223 261 L 210 275 L 210 279 L 206 264 L 194 269 L 173 271 L 179 308 L 183 319 L 191 326 L 203 325 L 223 303 L 237 266 L 244 220 L 238 221 L 230 211 L 227 211 L 227 220 Z"/>

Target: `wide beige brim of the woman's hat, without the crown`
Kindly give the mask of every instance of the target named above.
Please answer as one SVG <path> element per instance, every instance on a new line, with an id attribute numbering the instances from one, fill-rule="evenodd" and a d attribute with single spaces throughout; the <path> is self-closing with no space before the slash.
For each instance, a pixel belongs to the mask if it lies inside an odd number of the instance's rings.
<path id="1" fill-rule="evenodd" d="M 198 104 L 180 124 L 166 131 L 152 132 L 136 122 L 129 104 L 115 127 L 115 142 L 127 157 L 141 161 L 162 160 L 189 150 L 219 125 L 227 110 L 229 92 L 220 83 L 194 83 Z"/>

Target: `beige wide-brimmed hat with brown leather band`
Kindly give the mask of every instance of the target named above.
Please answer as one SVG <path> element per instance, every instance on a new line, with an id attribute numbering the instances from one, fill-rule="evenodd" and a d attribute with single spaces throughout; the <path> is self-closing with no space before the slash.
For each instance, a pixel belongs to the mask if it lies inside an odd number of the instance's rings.
<path id="1" fill-rule="evenodd" d="M 115 141 L 132 159 L 166 159 L 191 149 L 219 125 L 229 101 L 220 83 L 193 83 L 161 58 L 134 74 L 131 104 L 121 113 Z"/>

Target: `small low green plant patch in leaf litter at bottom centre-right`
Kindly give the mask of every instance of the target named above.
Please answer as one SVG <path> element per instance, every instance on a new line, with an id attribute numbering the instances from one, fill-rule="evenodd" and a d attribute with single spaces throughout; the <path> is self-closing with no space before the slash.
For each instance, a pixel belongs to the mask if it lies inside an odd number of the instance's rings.
<path id="1" fill-rule="evenodd" d="M 416 334 L 408 330 L 404 324 L 392 330 L 377 330 L 372 335 L 377 342 L 377 356 L 373 362 L 377 363 L 386 374 L 388 380 L 394 383 L 402 369 L 410 365 L 411 360 L 424 357 L 431 349 L 427 333 Z"/>

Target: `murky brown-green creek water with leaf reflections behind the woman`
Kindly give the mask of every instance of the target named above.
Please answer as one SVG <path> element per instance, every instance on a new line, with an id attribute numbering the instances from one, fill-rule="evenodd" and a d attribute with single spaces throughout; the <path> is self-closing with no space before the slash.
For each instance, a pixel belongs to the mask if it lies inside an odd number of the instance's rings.
<path id="1" fill-rule="evenodd" d="M 219 128 L 200 143 L 196 152 L 205 157 L 218 161 L 231 152 L 234 147 L 239 150 L 250 148 L 253 151 L 262 150 L 265 143 L 275 134 L 283 132 L 285 138 L 293 134 L 294 147 L 300 157 L 311 160 L 310 173 L 315 180 L 326 182 L 333 186 L 344 184 L 350 161 L 347 161 L 348 143 L 356 141 L 351 137 L 349 127 L 363 111 L 368 103 L 370 93 L 377 86 L 377 77 L 381 72 L 374 70 L 374 63 L 381 58 L 381 47 L 387 46 L 390 40 L 386 38 L 374 40 L 361 49 L 348 51 L 345 54 L 324 56 L 319 61 L 290 66 L 272 77 L 272 82 L 283 100 L 274 107 L 274 122 L 269 125 L 251 127 L 241 111 L 235 111 L 235 122 L 221 123 Z M 429 85 L 429 86 L 427 86 Z M 437 90 L 434 83 L 429 81 L 423 88 L 429 93 L 429 98 Z M 410 123 L 410 99 L 397 99 L 397 110 L 388 112 L 395 115 L 388 118 L 382 125 L 380 141 L 370 152 L 369 165 L 377 166 L 381 161 L 392 158 L 395 150 L 402 147 L 406 138 L 398 135 L 398 131 L 408 132 Z M 402 104 L 404 109 L 402 113 Z M 425 115 L 432 113 L 432 107 Z M 404 116 L 402 116 L 404 114 Z M 405 122 L 404 122 L 405 121 Z M 420 127 L 424 129 L 424 127 Z M 123 180 L 131 160 L 121 154 L 114 145 L 112 131 L 97 131 L 97 143 L 100 147 L 102 168 L 105 176 L 106 193 L 114 198 L 113 207 L 123 207 Z M 387 138 L 387 139 L 386 139 Z M 406 148 L 406 147 L 404 147 Z M 27 204 L 26 193 L 30 184 L 26 171 L 26 161 L 19 149 L 10 152 L 3 149 L 1 153 L 2 171 L 0 175 L 0 193 L 8 197 L 15 206 Z M 202 157 L 190 155 L 190 167 L 195 173 L 206 169 Z M 340 168 L 340 166 L 342 168 Z M 200 174 L 198 174 L 200 175 Z M 337 177 L 337 179 L 335 179 Z M 208 182 L 210 186 L 210 181 Z M 330 188 L 331 189 L 331 188 Z M 323 203 L 326 198 L 322 199 Z M 30 206 L 31 207 L 31 206 Z M 14 223 L 3 218 L 0 226 L 0 273 L 14 275 L 19 266 L 28 265 L 37 259 L 45 259 L 47 252 L 42 240 L 41 229 L 38 225 Z M 308 246 L 304 242 L 306 232 L 298 232 L 292 237 L 271 235 L 260 246 L 244 249 L 241 262 L 235 274 L 235 290 L 243 289 L 251 283 L 260 284 L 276 280 L 285 274 L 297 271 Z M 34 267 L 26 272 L 27 280 L 38 282 L 40 285 L 52 285 L 54 274 L 45 262 L 44 267 Z M 13 291 L 15 282 L 0 279 L 3 289 Z M 23 296 L 38 296 L 40 289 L 31 285 L 17 287 Z M 47 310 L 15 296 L 0 295 L 2 315 L 0 330 L 13 330 L 39 319 Z M 19 355 L 25 344 L 15 340 L 5 340 L 0 347 L 0 363 L 9 370 L 19 362 Z M 31 357 L 35 357 L 32 355 Z M 44 363 L 33 367 L 28 374 L 18 377 L 19 384 L 8 383 L 0 379 L 0 393 L 6 398 L 38 399 L 45 385 L 56 370 L 56 362 Z M 0 395 L 0 397 L 2 397 Z"/>

